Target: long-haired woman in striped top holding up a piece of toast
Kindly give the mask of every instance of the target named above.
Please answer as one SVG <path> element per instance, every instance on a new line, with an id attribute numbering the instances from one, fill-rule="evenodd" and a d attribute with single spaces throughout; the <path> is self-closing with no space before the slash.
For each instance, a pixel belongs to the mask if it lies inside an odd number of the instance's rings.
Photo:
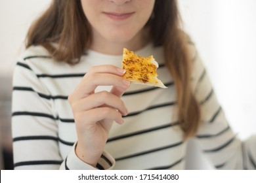
<path id="1" fill-rule="evenodd" d="M 228 126 L 176 1 L 55 0 L 13 81 L 15 169 L 184 169 L 196 137 L 219 169 L 255 169 L 255 137 Z M 121 76 L 123 48 L 153 55 L 168 89 Z"/>

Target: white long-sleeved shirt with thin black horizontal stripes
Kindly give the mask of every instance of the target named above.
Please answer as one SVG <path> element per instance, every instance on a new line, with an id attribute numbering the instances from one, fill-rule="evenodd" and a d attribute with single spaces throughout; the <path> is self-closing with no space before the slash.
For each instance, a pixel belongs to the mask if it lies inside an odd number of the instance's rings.
<path id="1" fill-rule="evenodd" d="M 242 142 L 219 105 L 194 44 L 192 90 L 200 101 L 202 125 L 196 141 L 217 169 L 256 169 L 256 138 Z M 137 51 L 153 55 L 167 89 L 131 84 L 122 99 L 125 123 L 114 124 L 97 169 L 184 169 L 187 142 L 177 123 L 175 84 L 163 61 L 163 48 Z M 95 169 L 75 155 L 77 135 L 68 95 L 95 65 L 121 67 L 122 56 L 89 50 L 77 65 L 54 61 L 45 48 L 32 46 L 18 59 L 12 92 L 15 169 Z M 110 90 L 99 86 L 96 92 Z"/>

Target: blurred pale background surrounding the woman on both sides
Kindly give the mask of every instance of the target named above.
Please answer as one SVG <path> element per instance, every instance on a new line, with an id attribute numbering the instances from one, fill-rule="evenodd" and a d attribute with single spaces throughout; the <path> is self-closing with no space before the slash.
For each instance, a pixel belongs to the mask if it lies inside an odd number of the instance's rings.
<path id="1" fill-rule="evenodd" d="M 198 48 L 226 118 L 246 139 L 256 133 L 256 1 L 178 1 L 184 29 Z M 12 169 L 13 67 L 28 27 L 50 2 L 0 0 L 0 169 Z M 188 152 L 186 169 L 213 168 L 195 141 Z"/>

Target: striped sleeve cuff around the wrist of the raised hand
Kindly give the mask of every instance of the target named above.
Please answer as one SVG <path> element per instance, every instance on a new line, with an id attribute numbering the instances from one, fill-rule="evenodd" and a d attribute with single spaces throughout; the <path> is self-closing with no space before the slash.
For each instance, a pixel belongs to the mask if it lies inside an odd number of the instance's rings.
<path id="1" fill-rule="evenodd" d="M 63 170 L 110 170 L 113 169 L 116 161 L 115 159 L 108 154 L 108 152 L 103 152 L 96 167 L 83 162 L 75 154 L 75 142 L 72 151 L 68 154 L 67 158 L 62 162 L 60 169 Z"/>

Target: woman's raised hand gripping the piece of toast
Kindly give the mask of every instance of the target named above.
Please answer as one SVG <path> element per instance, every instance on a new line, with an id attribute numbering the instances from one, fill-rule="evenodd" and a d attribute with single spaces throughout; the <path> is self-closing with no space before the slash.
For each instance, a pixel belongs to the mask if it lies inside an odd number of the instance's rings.
<path id="1" fill-rule="evenodd" d="M 129 81 L 121 76 L 123 69 L 112 65 L 92 67 L 72 92 L 68 101 L 74 114 L 77 131 L 77 156 L 96 166 L 113 122 L 123 124 L 122 116 L 128 110 L 121 95 L 129 87 Z M 113 86 L 110 92 L 95 93 L 97 86 Z"/>

